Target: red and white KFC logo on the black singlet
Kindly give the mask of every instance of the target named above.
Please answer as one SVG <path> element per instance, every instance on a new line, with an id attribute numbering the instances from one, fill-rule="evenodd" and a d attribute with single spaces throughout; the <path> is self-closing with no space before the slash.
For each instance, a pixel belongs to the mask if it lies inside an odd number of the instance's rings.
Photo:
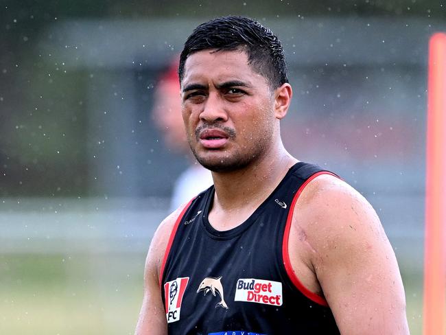
<path id="1" fill-rule="evenodd" d="M 189 277 L 177 278 L 164 284 L 165 316 L 167 323 L 180 320 L 181 303 Z"/>

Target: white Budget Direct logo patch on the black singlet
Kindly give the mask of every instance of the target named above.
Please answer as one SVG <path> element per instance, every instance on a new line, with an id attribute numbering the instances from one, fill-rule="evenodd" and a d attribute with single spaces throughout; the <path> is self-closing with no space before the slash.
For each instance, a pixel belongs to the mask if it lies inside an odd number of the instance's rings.
<path id="1" fill-rule="evenodd" d="M 282 283 L 263 279 L 238 279 L 235 301 L 282 305 Z"/>

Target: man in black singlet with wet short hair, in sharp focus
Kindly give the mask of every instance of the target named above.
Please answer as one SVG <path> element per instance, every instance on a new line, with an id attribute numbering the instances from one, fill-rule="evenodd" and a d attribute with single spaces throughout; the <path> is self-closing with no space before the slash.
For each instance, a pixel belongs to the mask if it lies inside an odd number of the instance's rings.
<path id="1" fill-rule="evenodd" d="M 214 186 L 156 231 L 136 334 L 408 334 L 375 211 L 283 148 L 292 88 L 279 39 L 214 19 L 189 36 L 178 72 L 189 146 Z"/>

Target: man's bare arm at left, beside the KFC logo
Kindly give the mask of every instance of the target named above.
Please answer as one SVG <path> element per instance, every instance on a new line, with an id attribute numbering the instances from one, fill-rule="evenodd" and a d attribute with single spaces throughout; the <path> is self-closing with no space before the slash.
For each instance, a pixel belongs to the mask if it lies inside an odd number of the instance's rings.
<path id="1" fill-rule="evenodd" d="M 159 275 L 161 262 L 167 248 L 170 233 L 180 211 L 174 211 L 161 222 L 150 243 L 149 252 L 145 259 L 144 297 L 135 335 L 166 335 L 167 321 L 163 301 L 161 299 L 161 284 Z"/>

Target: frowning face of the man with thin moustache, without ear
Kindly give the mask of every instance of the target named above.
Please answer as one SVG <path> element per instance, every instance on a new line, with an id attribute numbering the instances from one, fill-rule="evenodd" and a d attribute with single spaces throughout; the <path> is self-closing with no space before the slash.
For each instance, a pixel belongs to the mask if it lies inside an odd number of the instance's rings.
<path id="1" fill-rule="evenodd" d="M 189 146 L 204 167 L 233 171 L 268 152 L 278 131 L 274 98 L 244 51 L 191 54 L 181 84 Z"/>

